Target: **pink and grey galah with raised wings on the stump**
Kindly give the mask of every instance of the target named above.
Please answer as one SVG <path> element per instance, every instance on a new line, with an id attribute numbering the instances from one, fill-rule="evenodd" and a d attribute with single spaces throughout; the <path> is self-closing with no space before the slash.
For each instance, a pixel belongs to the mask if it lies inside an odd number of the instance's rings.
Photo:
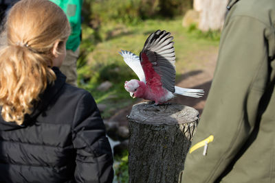
<path id="1" fill-rule="evenodd" d="M 131 97 L 166 103 L 176 95 L 201 97 L 203 90 L 175 86 L 175 48 L 170 32 L 157 30 L 144 43 L 140 57 L 121 50 L 120 55 L 136 73 L 139 80 L 125 82 Z"/>

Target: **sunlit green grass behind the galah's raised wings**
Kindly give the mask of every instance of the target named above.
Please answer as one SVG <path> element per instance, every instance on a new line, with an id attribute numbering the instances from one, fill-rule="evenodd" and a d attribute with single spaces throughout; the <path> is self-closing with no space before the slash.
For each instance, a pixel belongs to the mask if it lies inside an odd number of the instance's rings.
<path id="1" fill-rule="evenodd" d="M 197 55 L 217 49 L 219 45 L 216 34 L 209 36 L 199 33 L 196 28 L 184 28 L 181 19 L 148 20 L 135 25 L 110 22 L 102 25 L 99 32 L 83 26 L 78 85 L 89 90 L 97 103 L 107 104 L 103 118 L 111 117 L 120 108 L 136 101 L 131 99 L 123 86 L 126 80 L 137 79 L 137 76 L 124 63 L 118 51 L 124 49 L 139 55 L 146 38 L 157 29 L 165 29 L 174 37 L 177 75 L 198 69 L 203 59 Z M 96 90 L 106 80 L 112 82 L 113 86 L 106 92 Z"/>

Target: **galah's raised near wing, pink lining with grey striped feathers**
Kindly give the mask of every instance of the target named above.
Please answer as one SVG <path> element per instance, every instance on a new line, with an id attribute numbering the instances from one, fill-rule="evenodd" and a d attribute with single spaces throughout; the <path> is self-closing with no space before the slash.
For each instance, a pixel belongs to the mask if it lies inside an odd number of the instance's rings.
<path id="1" fill-rule="evenodd" d="M 175 93 L 175 48 L 170 32 L 157 30 L 144 43 L 140 52 L 142 69 L 148 85 L 162 84 Z"/>

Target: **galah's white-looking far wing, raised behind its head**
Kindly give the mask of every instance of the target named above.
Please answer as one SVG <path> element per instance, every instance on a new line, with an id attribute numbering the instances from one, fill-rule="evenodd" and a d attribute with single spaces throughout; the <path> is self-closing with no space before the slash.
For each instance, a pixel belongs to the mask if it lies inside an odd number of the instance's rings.
<path id="1" fill-rule="evenodd" d="M 142 64 L 140 64 L 139 56 L 131 53 L 130 51 L 121 50 L 120 55 L 123 57 L 124 62 L 130 66 L 130 68 L 135 72 L 140 81 L 146 83 L 144 71 L 142 69 Z"/>

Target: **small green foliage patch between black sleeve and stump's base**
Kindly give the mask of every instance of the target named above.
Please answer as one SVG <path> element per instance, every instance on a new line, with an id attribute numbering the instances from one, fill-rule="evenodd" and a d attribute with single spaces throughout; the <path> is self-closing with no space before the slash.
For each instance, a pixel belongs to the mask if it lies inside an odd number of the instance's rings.
<path id="1" fill-rule="evenodd" d="M 122 156 L 115 156 L 115 179 L 118 183 L 129 182 L 129 169 L 128 169 L 128 151 L 124 151 Z"/>

